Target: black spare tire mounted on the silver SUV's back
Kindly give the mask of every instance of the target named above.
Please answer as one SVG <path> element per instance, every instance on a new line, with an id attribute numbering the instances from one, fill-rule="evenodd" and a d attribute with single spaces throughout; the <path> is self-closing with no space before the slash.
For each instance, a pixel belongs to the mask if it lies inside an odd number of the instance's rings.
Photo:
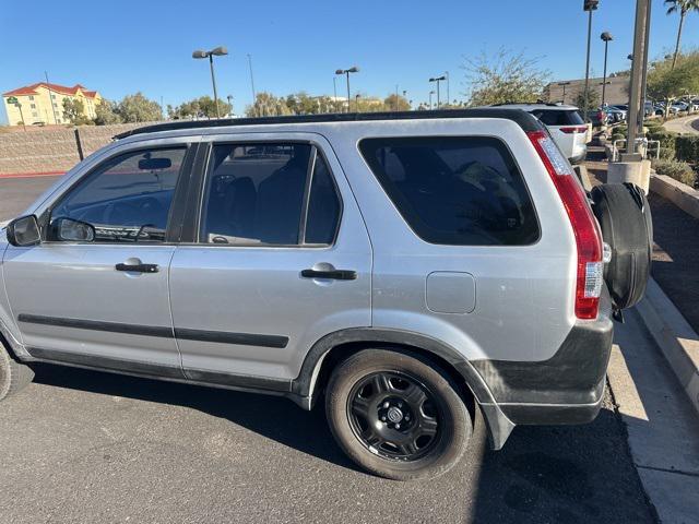
<path id="1" fill-rule="evenodd" d="M 591 191 L 602 237 L 612 249 L 604 281 L 616 309 L 643 298 L 651 270 L 653 223 L 643 191 L 632 183 L 604 183 Z"/>

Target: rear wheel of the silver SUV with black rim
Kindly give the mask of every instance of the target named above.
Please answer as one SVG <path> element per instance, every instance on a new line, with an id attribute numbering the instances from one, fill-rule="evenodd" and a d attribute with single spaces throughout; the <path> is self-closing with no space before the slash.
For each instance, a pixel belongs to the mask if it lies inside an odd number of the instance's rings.
<path id="1" fill-rule="evenodd" d="M 356 464 L 394 480 L 448 472 L 473 431 L 458 386 L 407 350 L 364 349 L 340 364 L 325 392 L 325 414 L 337 444 Z"/>

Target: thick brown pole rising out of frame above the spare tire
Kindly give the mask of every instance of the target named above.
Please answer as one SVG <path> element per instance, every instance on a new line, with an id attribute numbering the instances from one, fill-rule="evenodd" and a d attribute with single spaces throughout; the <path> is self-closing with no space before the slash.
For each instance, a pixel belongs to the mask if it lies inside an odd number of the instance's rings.
<path id="1" fill-rule="evenodd" d="M 648 22 L 650 15 L 650 0 L 636 0 L 636 28 L 633 31 L 633 61 L 631 62 L 631 93 L 629 98 L 628 135 L 626 154 L 621 154 L 621 162 L 641 160 L 636 153 L 636 136 L 638 133 L 639 111 L 645 108 L 645 100 L 641 100 L 643 93 L 643 70 L 645 69 L 648 49 Z M 642 119 L 642 116 L 640 117 Z"/>

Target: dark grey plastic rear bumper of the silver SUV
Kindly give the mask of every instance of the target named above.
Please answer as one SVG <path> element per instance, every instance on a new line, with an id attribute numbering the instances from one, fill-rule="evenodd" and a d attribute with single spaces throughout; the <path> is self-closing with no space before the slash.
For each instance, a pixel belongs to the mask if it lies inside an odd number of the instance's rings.
<path id="1" fill-rule="evenodd" d="M 584 424 L 596 417 L 614 331 L 607 309 L 601 308 L 597 320 L 578 321 L 548 360 L 472 361 L 512 424 Z"/>

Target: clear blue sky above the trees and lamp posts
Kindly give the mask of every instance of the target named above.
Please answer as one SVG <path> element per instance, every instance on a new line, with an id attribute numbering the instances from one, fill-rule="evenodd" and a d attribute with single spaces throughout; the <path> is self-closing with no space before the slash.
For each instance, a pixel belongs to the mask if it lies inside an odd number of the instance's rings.
<path id="1" fill-rule="evenodd" d="M 629 68 L 635 5 L 600 1 L 592 28 L 595 75 L 603 70 L 603 31 L 614 36 L 609 71 Z M 677 22 L 653 1 L 651 58 L 674 48 Z M 537 58 L 552 80 L 584 78 L 585 35 L 582 0 L 2 0 L 0 92 L 44 81 L 47 71 L 54 83 L 80 83 L 109 99 L 141 91 L 177 105 L 211 95 L 209 64 L 193 60 L 192 51 L 226 46 L 229 55 L 215 59 L 216 83 L 221 98 L 233 95 L 236 112 L 252 100 L 248 55 L 258 92 L 332 95 L 334 71 L 357 66 L 353 96 L 383 97 L 398 84 L 417 105 L 434 87 L 428 79 L 445 71 L 451 98 L 463 98 L 465 59 L 502 48 Z M 694 13 L 683 47 L 698 46 Z M 345 92 L 337 78 L 337 94 Z"/>

